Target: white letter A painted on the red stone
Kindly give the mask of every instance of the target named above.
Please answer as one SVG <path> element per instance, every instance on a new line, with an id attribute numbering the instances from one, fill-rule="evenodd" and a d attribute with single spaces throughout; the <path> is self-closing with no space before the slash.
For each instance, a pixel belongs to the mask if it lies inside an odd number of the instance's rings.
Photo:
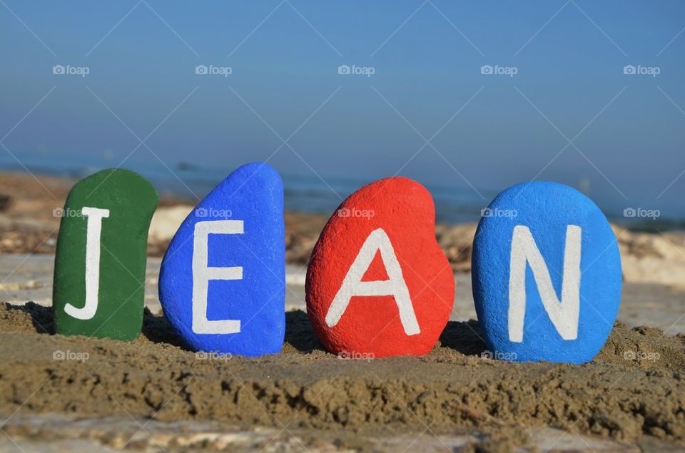
<path id="1" fill-rule="evenodd" d="M 368 270 L 376 252 L 380 250 L 380 258 L 385 265 L 385 272 L 388 280 L 377 280 L 374 282 L 362 282 L 362 277 Z M 407 335 L 417 335 L 421 333 L 419 323 L 416 320 L 412 300 L 407 289 L 405 278 L 402 277 L 402 268 L 397 261 L 395 250 L 392 248 L 390 238 L 387 237 L 382 228 L 373 230 L 364 245 L 359 250 L 354 263 L 347 270 L 347 275 L 342 280 L 342 286 L 338 294 L 333 298 L 328 313 L 326 313 L 326 324 L 334 327 L 340 321 L 340 317 L 347 310 L 350 299 L 354 296 L 385 296 L 395 297 L 397 309 L 400 310 L 400 321 Z"/>

